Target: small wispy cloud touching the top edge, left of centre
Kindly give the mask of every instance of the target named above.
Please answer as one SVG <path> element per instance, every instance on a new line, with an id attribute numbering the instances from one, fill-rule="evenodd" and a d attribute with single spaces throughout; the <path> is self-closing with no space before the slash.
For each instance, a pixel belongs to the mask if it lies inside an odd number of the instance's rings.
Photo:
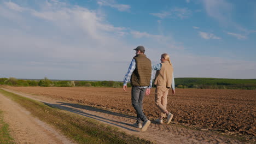
<path id="1" fill-rule="evenodd" d="M 118 9 L 119 11 L 129 11 L 131 6 L 128 4 L 115 4 L 113 1 L 107 1 L 107 0 L 98 0 L 98 5 L 103 6 L 109 6 L 115 9 Z"/>

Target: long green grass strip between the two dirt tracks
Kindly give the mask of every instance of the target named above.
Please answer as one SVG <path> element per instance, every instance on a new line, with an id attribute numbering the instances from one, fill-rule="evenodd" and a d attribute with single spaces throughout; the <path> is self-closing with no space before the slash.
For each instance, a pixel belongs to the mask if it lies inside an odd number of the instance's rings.
<path id="1" fill-rule="evenodd" d="M 64 135 L 78 143 L 152 143 L 121 133 L 117 128 L 98 123 L 94 119 L 56 109 L 36 100 L 0 89 L 0 93 L 25 107 L 33 116 L 60 129 Z"/>

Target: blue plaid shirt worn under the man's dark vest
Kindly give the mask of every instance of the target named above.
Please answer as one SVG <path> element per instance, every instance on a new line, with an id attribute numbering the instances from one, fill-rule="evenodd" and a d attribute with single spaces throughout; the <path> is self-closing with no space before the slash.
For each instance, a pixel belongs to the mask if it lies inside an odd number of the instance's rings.
<path id="1" fill-rule="evenodd" d="M 129 66 L 129 69 L 128 69 L 125 77 L 124 77 L 124 86 L 126 86 L 127 82 L 130 81 L 131 75 L 132 75 L 133 71 L 135 70 L 135 68 L 136 68 L 136 61 L 133 58 L 132 61 L 131 61 L 130 66 Z M 151 71 L 150 85 L 149 86 L 145 86 L 143 88 L 151 88 L 152 87 L 152 80 L 153 80 L 153 70 Z"/>

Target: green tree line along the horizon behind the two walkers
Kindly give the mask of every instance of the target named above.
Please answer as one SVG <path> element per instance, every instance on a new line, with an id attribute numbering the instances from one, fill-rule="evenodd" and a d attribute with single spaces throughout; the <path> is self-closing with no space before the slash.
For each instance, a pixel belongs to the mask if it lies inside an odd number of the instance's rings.
<path id="1" fill-rule="evenodd" d="M 177 88 L 256 89 L 256 79 L 175 78 Z M 153 81 L 154 82 L 154 81 Z M 0 85 L 42 87 L 123 87 L 120 81 L 21 80 L 0 78 Z M 130 83 L 127 83 L 131 87 Z"/>

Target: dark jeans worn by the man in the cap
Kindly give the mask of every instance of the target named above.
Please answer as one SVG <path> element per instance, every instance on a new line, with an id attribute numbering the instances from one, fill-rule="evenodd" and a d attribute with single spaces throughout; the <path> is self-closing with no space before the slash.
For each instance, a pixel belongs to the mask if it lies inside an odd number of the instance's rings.
<path id="1" fill-rule="evenodd" d="M 132 106 L 134 107 L 137 113 L 137 122 L 141 123 L 147 120 L 147 117 L 144 115 L 143 109 L 143 98 L 146 93 L 147 88 L 140 88 L 140 87 L 132 87 Z"/>

